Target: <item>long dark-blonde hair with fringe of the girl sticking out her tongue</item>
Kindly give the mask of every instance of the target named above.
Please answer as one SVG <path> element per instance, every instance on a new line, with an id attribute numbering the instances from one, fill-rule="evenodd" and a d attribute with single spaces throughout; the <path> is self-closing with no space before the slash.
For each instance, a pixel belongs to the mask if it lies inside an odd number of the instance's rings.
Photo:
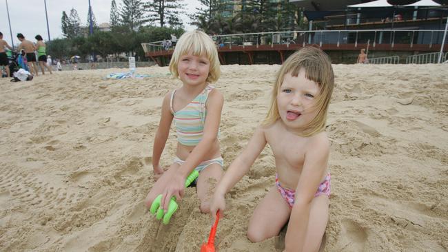
<path id="1" fill-rule="evenodd" d="M 333 68 L 327 54 L 322 50 L 311 46 L 302 48 L 301 50 L 298 50 L 298 52 L 294 52 L 294 54 L 289 56 L 285 63 L 283 63 L 280 70 L 278 70 L 274 89 L 272 90 L 269 112 L 267 112 L 263 125 L 272 125 L 280 118 L 280 114 L 278 113 L 277 94 L 283 83 L 285 74 L 298 76 L 298 72 L 302 68 L 305 70 L 305 78 L 317 83 L 319 93 L 316 96 L 316 104 L 314 106 L 314 109 L 318 109 L 318 113 L 313 120 L 305 126 L 303 133 L 300 135 L 312 136 L 325 129 L 328 105 L 334 88 Z"/>

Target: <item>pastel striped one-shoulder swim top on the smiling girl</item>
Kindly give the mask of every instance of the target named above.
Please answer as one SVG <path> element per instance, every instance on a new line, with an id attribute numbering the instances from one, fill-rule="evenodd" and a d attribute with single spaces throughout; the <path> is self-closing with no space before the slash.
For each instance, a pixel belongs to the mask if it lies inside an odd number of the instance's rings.
<path id="1" fill-rule="evenodd" d="M 193 101 L 188 103 L 183 109 L 174 112 L 173 98 L 174 90 L 171 94 L 170 109 L 174 116 L 174 126 L 176 127 L 177 140 L 182 145 L 195 146 L 201 141 L 204 131 L 205 116 L 207 109 L 205 102 L 208 94 L 214 87 L 207 85 L 201 94 L 198 94 Z"/>

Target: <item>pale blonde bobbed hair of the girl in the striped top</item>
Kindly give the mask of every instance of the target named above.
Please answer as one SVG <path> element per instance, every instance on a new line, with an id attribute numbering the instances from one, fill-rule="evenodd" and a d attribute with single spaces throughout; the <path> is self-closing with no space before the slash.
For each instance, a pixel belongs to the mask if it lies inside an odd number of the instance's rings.
<path id="1" fill-rule="evenodd" d="M 218 50 L 214 41 L 204 32 L 194 30 L 192 32 L 185 32 L 182 34 L 179 41 L 176 43 L 176 48 L 170 61 L 170 72 L 174 78 L 179 78 L 177 72 L 177 65 L 181 56 L 192 53 L 194 56 L 207 56 L 210 61 L 210 70 L 207 76 L 208 83 L 218 81 L 221 76 L 221 64 L 219 63 Z"/>

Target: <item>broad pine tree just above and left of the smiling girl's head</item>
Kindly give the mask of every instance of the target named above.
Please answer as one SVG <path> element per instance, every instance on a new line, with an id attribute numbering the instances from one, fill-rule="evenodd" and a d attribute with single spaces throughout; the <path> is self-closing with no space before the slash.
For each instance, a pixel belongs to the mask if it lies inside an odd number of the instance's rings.
<path id="1" fill-rule="evenodd" d="M 185 4 L 179 0 L 152 0 L 145 4 L 145 10 L 150 12 L 148 20 L 158 23 L 160 27 L 168 24 L 172 28 L 182 28 L 179 15 L 185 13 L 183 8 Z"/>

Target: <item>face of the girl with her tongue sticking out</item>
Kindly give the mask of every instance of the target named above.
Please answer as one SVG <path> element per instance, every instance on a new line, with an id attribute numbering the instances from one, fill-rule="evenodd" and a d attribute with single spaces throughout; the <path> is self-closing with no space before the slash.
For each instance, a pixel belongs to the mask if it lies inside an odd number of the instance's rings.
<path id="1" fill-rule="evenodd" d="M 317 115 L 314 107 L 319 87 L 314 81 L 305 78 L 302 68 L 298 76 L 285 74 L 277 94 L 278 113 L 286 127 L 303 129 Z"/>

